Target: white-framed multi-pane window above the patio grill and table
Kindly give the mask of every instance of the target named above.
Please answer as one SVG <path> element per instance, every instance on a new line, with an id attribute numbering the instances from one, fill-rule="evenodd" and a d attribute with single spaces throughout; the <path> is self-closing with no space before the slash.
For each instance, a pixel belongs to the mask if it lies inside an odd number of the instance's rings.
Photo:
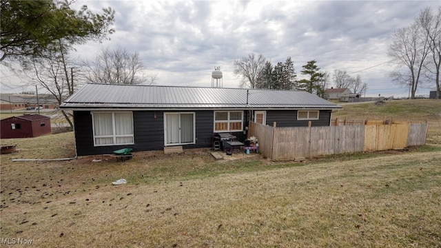
<path id="1" fill-rule="evenodd" d="M 242 131 L 243 112 L 214 112 L 214 132 Z"/>

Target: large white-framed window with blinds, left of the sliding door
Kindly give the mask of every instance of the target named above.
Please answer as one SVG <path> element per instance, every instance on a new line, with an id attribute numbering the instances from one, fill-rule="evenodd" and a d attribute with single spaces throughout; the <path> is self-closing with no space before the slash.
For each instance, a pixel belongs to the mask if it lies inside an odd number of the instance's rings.
<path id="1" fill-rule="evenodd" d="M 94 145 L 134 143 L 132 112 L 92 112 Z"/>

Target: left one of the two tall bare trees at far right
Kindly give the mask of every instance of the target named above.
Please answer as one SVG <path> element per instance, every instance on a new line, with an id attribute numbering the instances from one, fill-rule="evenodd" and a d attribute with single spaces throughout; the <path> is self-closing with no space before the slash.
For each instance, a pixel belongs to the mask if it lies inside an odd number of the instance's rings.
<path id="1" fill-rule="evenodd" d="M 420 31 L 416 23 L 408 28 L 400 28 L 393 33 L 392 43 L 387 52 L 396 65 L 389 76 L 396 83 L 409 85 L 411 99 L 415 99 L 418 86 L 426 72 L 427 55 L 430 52 L 428 35 Z M 407 70 L 402 70 L 403 68 Z"/>

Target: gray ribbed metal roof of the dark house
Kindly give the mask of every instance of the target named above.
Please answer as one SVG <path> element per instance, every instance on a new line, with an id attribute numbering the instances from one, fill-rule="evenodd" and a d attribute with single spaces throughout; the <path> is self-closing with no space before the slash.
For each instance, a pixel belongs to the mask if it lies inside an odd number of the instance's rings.
<path id="1" fill-rule="evenodd" d="M 248 104 L 247 104 L 248 103 Z M 86 84 L 60 106 L 81 108 L 341 108 L 291 90 Z"/>

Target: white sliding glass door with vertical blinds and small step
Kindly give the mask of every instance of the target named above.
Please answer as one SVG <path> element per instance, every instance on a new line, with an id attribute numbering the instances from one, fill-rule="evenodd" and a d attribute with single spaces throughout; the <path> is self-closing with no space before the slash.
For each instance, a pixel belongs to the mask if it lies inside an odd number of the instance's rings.
<path id="1" fill-rule="evenodd" d="M 164 113 L 165 145 L 196 143 L 194 113 Z"/>

